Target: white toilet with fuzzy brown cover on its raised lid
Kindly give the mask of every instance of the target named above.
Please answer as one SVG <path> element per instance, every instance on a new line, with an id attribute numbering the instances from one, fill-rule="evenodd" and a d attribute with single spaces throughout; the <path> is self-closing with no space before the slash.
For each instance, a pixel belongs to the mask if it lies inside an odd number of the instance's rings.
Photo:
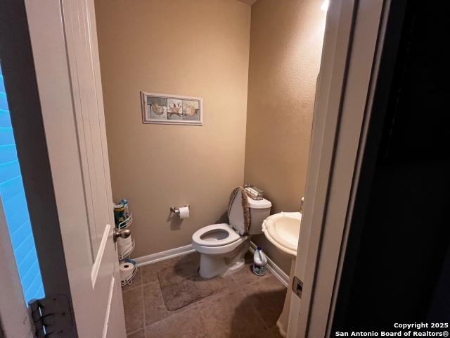
<path id="1" fill-rule="evenodd" d="M 266 199 L 250 199 L 242 187 L 234 189 L 228 208 L 229 224 L 207 225 L 192 235 L 193 248 L 200 253 L 200 276 L 225 276 L 243 268 L 250 237 L 262 233 L 262 221 L 270 215 L 271 206 Z"/>

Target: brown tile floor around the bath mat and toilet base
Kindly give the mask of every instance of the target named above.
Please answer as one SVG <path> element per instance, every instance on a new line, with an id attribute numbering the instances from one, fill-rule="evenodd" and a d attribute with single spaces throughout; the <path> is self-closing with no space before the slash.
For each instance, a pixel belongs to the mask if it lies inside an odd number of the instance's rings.
<path id="1" fill-rule="evenodd" d="M 245 258 L 245 268 L 225 277 L 226 289 L 176 311 L 165 307 L 158 271 L 198 262 L 198 253 L 143 266 L 133 284 L 123 288 L 127 338 L 281 337 L 276 320 L 286 288 L 270 272 L 253 275 L 252 255 Z"/>

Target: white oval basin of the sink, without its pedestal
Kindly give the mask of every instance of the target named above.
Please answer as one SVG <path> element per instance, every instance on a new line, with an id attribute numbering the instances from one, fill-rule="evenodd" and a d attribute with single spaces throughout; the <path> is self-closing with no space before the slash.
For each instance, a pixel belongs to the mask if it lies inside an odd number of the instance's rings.
<path id="1" fill-rule="evenodd" d="M 264 220 L 262 232 L 278 250 L 295 258 L 301 222 L 301 213 L 276 213 Z"/>

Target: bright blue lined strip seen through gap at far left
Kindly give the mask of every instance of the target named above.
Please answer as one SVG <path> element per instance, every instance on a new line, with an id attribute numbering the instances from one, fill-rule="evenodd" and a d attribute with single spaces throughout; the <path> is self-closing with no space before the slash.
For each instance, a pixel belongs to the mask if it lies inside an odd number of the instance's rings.
<path id="1" fill-rule="evenodd" d="M 25 96 L 24 96 L 25 97 Z M 25 303 L 45 296 L 0 65 L 0 196 Z"/>

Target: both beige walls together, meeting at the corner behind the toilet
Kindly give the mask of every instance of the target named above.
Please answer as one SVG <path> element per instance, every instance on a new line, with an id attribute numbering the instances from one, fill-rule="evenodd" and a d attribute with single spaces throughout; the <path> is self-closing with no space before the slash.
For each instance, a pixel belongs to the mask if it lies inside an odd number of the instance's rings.
<path id="1" fill-rule="evenodd" d="M 325 25 L 322 0 L 96 0 L 113 197 L 129 199 L 134 257 L 224 221 L 231 189 L 300 207 Z M 250 50 L 250 64 L 249 64 Z M 143 125 L 140 91 L 204 99 L 204 125 Z M 191 204 L 191 218 L 169 207 Z M 289 262 L 254 237 L 286 272 Z"/>

